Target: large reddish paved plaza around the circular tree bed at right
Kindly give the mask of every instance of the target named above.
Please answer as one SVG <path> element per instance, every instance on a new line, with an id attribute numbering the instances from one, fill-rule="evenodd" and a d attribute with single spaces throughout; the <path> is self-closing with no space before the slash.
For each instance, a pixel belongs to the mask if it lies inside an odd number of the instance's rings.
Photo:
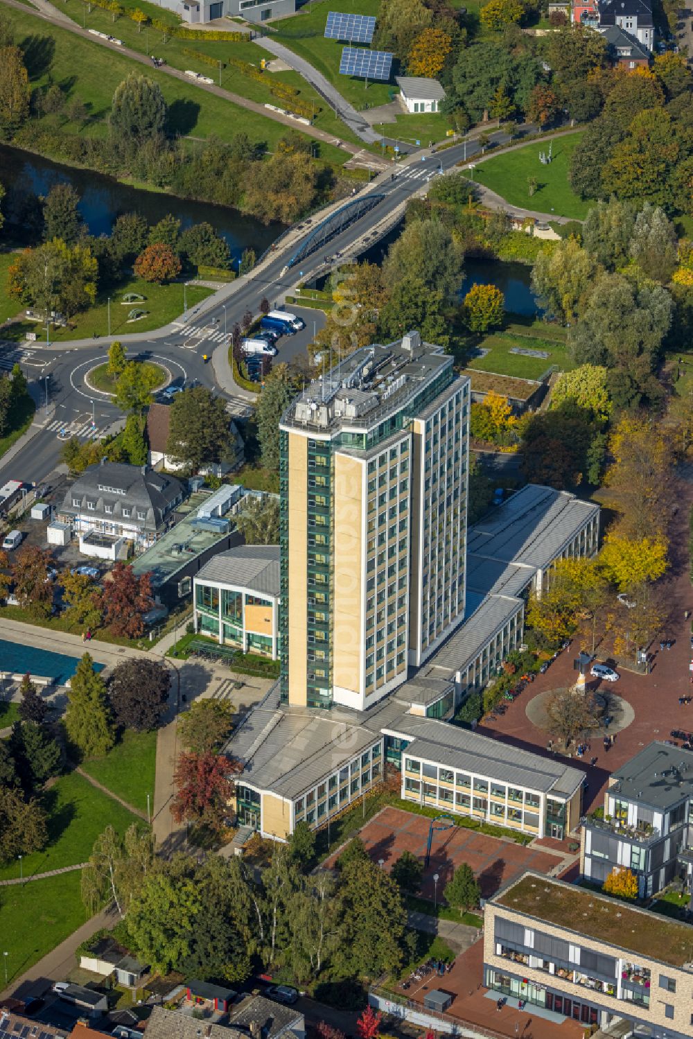
<path id="1" fill-rule="evenodd" d="M 689 664 L 693 659 L 691 650 L 691 621 L 684 619 L 686 610 L 693 610 L 693 588 L 689 576 L 688 516 L 692 486 L 678 481 L 678 511 L 672 520 L 670 530 L 669 576 L 665 579 L 666 601 L 670 606 L 670 619 L 650 646 L 654 654 L 651 672 L 636 674 L 619 667 L 620 680 L 615 686 L 605 683 L 610 691 L 617 693 L 631 704 L 635 718 L 616 736 L 614 746 L 605 752 L 601 740 L 592 741 L 587 761 L 572 758 L 570 765 L 583 771 L 589 781 L 585 798 L 585 810 L 592 810 L 604 804 L 604 794 L 610 773 L 619 769 L 624 762 L 642 750 L 654 740 L 669 740 L 671 731 L 683 729 L 693 731 L 693 703 L 682 707 L 678 697 L 693 695 L 693 685 L 689 675 Z M 673 639 L 670 650 L 660 650 L 660 637 Z M 562 652 L 545 674 L 523 692 L 513 703 L 508 704 L 505 715 L 496 721 L 486 721 L 478 727 L 484 736 L 501 739 L 534 753 L 549 756 L 545 750 L 547 732 L 534 725 L 527 717 L 527 707 L 531 699 L 549 689 L 560 689 L 572 685 L 575 672 L 572 659 L 578 650 L 577 643 Z M 593 687 L 592 687 L 593 688 Z M 681 743 L 678 742 L 681 746 Z M 596 757 L 592 768 L 589 758 Z M 543 845 L 547 842 L 542 842 Z"/>

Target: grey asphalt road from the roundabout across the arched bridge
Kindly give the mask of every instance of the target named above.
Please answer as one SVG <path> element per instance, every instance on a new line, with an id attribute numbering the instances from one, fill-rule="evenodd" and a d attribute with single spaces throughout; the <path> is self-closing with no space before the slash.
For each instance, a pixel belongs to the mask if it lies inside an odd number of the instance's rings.
<path id="1" fill-rule="evenodd" d="M 525 132 L 533 127 L 521 128 Z M 498 143 L 507 143 L 508 137 L 503 133 L 491 134 L 491 139 Z M 259 313 L 260 300 L 263 296 L 275 305 L 296 282 L 302 277 L 309 281 L 312 272 L 323 263 L 325 255 L 334 256 L 353 246 L 368 229 L 391 214 L 402 202 L 425 186 L 427 178 L 435 170 L 451 169 L 460 160 L 469 159 L 480 151 L 476 141 L 468 141 L 447 149 L 438 154 L 419 153 L 415 160 L 406 166 L 393 167 L 395 180 L 385 179 L 377 187 L 365 189 L 363 195 L 377 193 L 381 199 L 359 219 L 332 238 L 327 245 L 312 252 L 305 261 L 287 269 L 287 263 L 293 251 L 309 237 L 315 223 L 306 222 L 301 237 L 298 238 L 289 252 L 281 254 L 266 262 L 260 270 L 251 272 L 250 276 L 210 296 L 188 311 L 182 318 L 159 331 L 121 338 L 128 349 L 129 356 L 151 356 L 166 368 L 170 380 L 178 385 L 189 384 L 197 380 L 203 385 L 215 387 L 214 372 L 211 364 L 206 364 L 204 355 L 211 356 L 221 344 L 228 342 L 233 325 L 246 310 Z M 366 243 L 365 247 L 372 244 Z M 293 309 L 293 308 L 290 308 Z M 305 349 L 313 337 L 313 322 L 317 327 L 324 323 L 324 315 L 320 311 L 305 311 L 306 327 L 302 332 L 279 342 L 277 361 L 289 361 Z M 88 391 L 84 384 L 83 374 L 90 367 L 103 362 L 111 339 L 85 342 L 83 345 L 41 347 L 37 344 L 27 344 L 26 348 L 16 346 L 0 347 L 0 367 L 11 368 L 11 362 L 19 359 L 23 370 L 30 380 L 38 383 L 42 400 L 45 399 L 45 379 L 49 376 L 49 407 L 54 407 L 52 418 L 19 451 L 11 460 L 0 462 L 0 481 L 8 479 L 23 481 L 41 481 L 46 479 L 59 461 L 62 443 L 70 435 L 77 434 L 86 439 L 96 432 L 97 435 L 109 430 L 113 423 L 123 419 L 122 412 L 112 404 L 108 397 Z M 217 390 L 228 399 L 230 414 L 241 417 L 247 414 L 247 396 L 239 393 L 235 396 L 228 388 Z M 36 412 L 34 423 L 44 422 L 44 407 Z M 94 426 L 91 426 L 94 422 Z"/>

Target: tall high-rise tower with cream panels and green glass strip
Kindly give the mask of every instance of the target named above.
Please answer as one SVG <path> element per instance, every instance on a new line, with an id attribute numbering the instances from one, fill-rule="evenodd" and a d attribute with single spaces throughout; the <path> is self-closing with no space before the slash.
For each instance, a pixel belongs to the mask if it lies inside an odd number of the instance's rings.
<path id="1" fill-rule="evenodd" d="M 464 614 L 470 383 L 411 331 L 279 425 L 282 697 L 364 710 Z"/>

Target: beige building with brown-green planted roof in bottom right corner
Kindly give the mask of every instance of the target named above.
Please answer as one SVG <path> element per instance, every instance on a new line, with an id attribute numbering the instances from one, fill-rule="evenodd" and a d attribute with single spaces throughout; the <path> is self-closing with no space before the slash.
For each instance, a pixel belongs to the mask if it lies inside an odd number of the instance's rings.
<path id="1" fill-rule="evenodd" d="M 484 984 L 619 1035 L 684 1039 L 693 1029 L 693 928 L 526 873 L 486 903 Z"/>

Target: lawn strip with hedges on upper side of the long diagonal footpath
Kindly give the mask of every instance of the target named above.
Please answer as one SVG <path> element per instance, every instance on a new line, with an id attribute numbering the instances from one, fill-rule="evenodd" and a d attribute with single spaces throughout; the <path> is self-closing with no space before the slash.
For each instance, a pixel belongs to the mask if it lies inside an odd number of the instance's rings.
<path id="1" fill-rule="evenodd" d="M 337 118 L 331 108 L 325 104 L 317 91 L 298 73 L 282 72 L 275 75 L 268 72 L 266 75 L 267 85 L 265 85 L 250 79 L 239 69 L 235 69 L 230 64 L 229 58 L 238 58 L 260 69 L 261 59 L 268 56 L 267 51 L 263 50 L 257 44 L 250 43 L 249 37 L 244 43 L 234 43 L 223 39 L 174 39 L 167 37 L 164 44 L 163 33 L 159 32 L 158 29 L 145 26 L 141 31 L 138 31 L 137 25 L 132 19 L 123 17 L 113 22 L 112 16 L 108 11 L 98 7 L 94 7 L 89 14 L 88 7 L 82 3 L 82 0 L 64 0 L 64 2 L 63 0 L 59 0 L 58 5 L 59 9 L 69 15 L 78 25 L 84 25 L 87 29 L 98 29 L 100 32 L 112 33 L 118 39 L 122 39 L 126 47 L 129 47 L 131 50 L 138 51 L 140 54 L 155 54 L 157 57 L 163 57 L 166 63 L 174 69 L 181 69 L 183 71 L 190 69 L 193 72 L 202 73 L 204 76 L 210 76 L 216 84 L 222 86 L 224 89 L 231 90 L 233 94 L 239 94 L 250 101 L 282 106 L 282 102 L 277 101 L 269 90 L 273 78 L 281 80 L 283 83 L 288 83 L 290 86 L 295 86 L 299 90 L 298 98 L 300 101 L 315 105 L 316 109 L 322 109 L 316 117 L 315 126 L 320 127 L 326 133 L 335 134 L 335 136 L 354 142 L 357 141 L 355 134 L 345 127 L 341 119 Z M 172 11 L 164 11 L 163 8 L 155 4 L 135 3 L 134 0 L 125 0 L 123 6 L 126 8 L 139 7 L 150 18 L 166 21 L 170 25 L 181 24 L 180 19 Z M 165 18 L 162 18 L 164 15 Z M 205 54 L 215 61 L 223 62 L 225 68 L 221 69 L 221 79 L 219 80 L 218 65 L 215 68 L 197 57 L 186 54 L 186 50 L 196 51 L 198 54 Z"/>

